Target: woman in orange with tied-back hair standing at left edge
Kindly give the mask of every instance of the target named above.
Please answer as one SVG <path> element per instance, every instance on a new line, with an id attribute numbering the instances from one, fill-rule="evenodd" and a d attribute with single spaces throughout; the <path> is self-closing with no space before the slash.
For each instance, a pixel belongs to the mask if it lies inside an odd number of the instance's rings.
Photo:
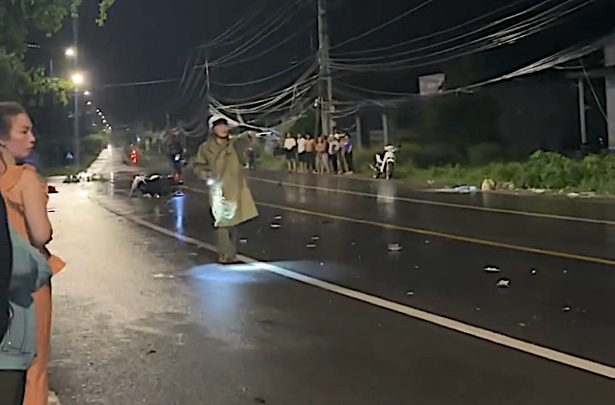
<path id="1" fill-rule="evenodd" d="M 47 251 L 52 228 L 47 217 L 47 185 L 34 167 L 17 162 L 34 147 L 32 122 L 17 103 L 0 102 L 0 190 L 7 218 L 15 231 L 29 240 L 49 260 L 52 272 L 64 268 L 62 260 Z M 26 374 L 24 405 L 47 405 L 51 334 L 51 284 L 32 295 L 36 311 L 36 358 Z"/>

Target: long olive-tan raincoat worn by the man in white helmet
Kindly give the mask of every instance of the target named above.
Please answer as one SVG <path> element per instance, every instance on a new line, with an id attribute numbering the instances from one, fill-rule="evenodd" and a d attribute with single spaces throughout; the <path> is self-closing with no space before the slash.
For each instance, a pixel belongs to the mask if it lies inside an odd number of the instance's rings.
<path id="1" fill-rule="evenodd" d="M 244 168 L 237 153 L 242 141 L 243 139 L 231 138 L 220 145 L 212 135 L 199 146 L 196 158 L 192 161 L 197 177 L 202 180 L 221 180 L 224 199 L 237 203 L 235 216 L 229 220 L 221 220 L 219 227 L 234 227 L 258 217 L 258 210 L 245 181 Z"/>

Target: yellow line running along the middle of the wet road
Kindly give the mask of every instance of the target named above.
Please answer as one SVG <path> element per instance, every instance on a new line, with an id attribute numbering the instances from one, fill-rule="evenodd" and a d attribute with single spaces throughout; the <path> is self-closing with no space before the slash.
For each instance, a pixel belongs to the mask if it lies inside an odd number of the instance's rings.
<path id="1" fill-rule="evenodd" d="M 182 188 L 188 191 L 193 191 L 195 193 L 207 194 L 207 191 L 200 190 L 199 188 L 193 188 L 189 186 L 183 186 Z M 281 206 L 279 204 L 272 204 L 271 202 L 256 201 L 256 204 L 259 206 L 263 206 L 263 207 L 280 209 L 282 211 L 295 212 L 296 214 L 312 215 L 314 217 L 320 217 L 320 218 L 326 218 L 326 219 L 332 219 L 332 220 L 338 220 L 338 221 L 344 221 L 344 222 L 351 222 L 351 223 L 359 223 L 361 225 L 371 225 L 373 227 L 386 228 L 386 229 L 397 230 L 397 231 L 405 231 L 405 232 L 415 233 L 417 235 L 449 239 L 451 241 L 472 243 L 472 244 L 478 244 L 478 245 L 489 246 L 489 247 L 498 247 L 499 249 L 508 249 L 510 251 L 533 253 L 533 254 L 539 254 L 539 255 L 546 255 L 550 257 L 559 257 L 561 259 L 579 260 L 581 262 L 598 263 L 601 265 L 608 265 L 608 266 L 615 265 L 615 260 L 603 259 L 601 257 L 579 255 L 579 254 L 560 252 L 560 251 L 551 251 L 549 249 L 539 249 L 538 247 L 502 243 L 502 242 L 490 241 L 488 239 L 471 238 L 469 236 L 453 235 L 450 233 L 430 231 L 430 230 L 421 229 L 421 228 L 403 227 L 402 225 L 394 225 L 392 223 L 376 222 L 376 221 L 370 221 L 367 219 L 357 219 L 357 218 L 352 218 L 352 217 L 343 217 L 341 215 L 326 214 L 325 212 L 310 211 L 310 210 L 303 209 L 303 208 Z"/>

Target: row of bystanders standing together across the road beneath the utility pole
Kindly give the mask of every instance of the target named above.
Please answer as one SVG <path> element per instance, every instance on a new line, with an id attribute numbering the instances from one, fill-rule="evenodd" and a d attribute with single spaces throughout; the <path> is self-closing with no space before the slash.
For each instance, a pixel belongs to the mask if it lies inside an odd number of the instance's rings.
<path id="1" fill-rule="evenodd" d="M 288 172 L 315 174 L 353 174 L 350 135 L 335 134 L 312 138 L 310 135 L 286 134 L 284 154 Z"/>

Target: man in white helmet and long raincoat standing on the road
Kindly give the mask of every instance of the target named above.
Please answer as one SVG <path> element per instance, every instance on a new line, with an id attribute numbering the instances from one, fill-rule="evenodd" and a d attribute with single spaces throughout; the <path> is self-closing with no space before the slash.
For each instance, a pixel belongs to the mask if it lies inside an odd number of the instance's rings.
<path id="1" fill-rule="evenodd" d="M 210 187 L 210 205 L 218 239 L 218 262 L 231 264 L 237 256 L 237 226 L 258 217 L 239 161 L 247 138 L 231 138 L 224 118 L 210 119 L 212 134 L 199 146 L 193 168 Z"/>

